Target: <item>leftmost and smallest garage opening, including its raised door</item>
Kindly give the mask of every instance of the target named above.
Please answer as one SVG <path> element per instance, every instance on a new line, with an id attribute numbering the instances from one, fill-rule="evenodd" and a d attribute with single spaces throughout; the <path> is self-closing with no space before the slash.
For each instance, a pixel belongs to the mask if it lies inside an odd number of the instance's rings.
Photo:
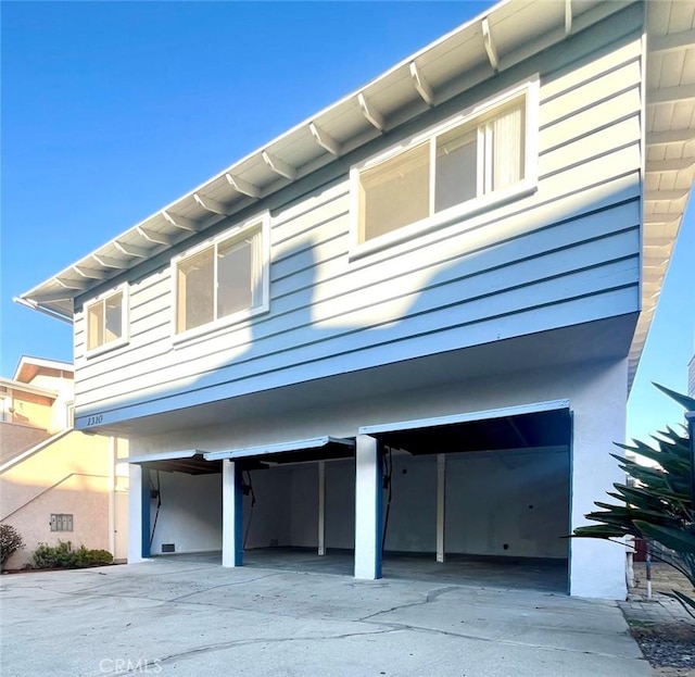
<path id="1" fill-rule="evenodd" d="M 142 555 L 220 561 L 222 462 L 198 450 L 128 461 L 142 468 Z"/>

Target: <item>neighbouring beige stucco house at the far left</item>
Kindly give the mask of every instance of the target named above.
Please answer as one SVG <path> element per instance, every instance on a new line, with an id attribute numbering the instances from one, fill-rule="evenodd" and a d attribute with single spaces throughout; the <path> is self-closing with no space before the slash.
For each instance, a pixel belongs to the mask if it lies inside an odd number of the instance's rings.
<path id="1" fill-rule="evenodd" d="M 0 378 L 0 522 L 25 543 L 8 568 L 61 540 L 127 557 L 127 443 L 75 430 L 74 390 L 73 365 L 55 360 L 23 356 Z"/>

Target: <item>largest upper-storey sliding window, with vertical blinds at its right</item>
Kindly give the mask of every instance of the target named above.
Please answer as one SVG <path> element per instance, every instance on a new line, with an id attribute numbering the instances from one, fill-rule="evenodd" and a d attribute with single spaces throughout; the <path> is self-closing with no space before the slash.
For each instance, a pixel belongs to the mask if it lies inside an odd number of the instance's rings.
<path id="1" fill-rule="evenodd" d="M 534 186 L 538 78 L 352 170 L 357 250 L 517 197 Z"/>

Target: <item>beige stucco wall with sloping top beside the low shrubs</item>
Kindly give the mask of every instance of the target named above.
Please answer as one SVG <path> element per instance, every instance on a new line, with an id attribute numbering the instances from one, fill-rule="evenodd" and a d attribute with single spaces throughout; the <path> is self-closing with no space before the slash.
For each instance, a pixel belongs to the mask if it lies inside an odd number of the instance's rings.
<path id="1" fill-rule="evenodd" d="M 75 547 L 113 552 L 111 534 L 126 529 L 116 524 L 113 507 L 115 472 L 111 438 L 72 431 L 0 474 L 0 521 L 14 526 L 25 541 L 7 567 L 22 567 L 40 542 L 70 540 Z M 74 530 L 51 531 L 54 513 L 72 514 Z"/>

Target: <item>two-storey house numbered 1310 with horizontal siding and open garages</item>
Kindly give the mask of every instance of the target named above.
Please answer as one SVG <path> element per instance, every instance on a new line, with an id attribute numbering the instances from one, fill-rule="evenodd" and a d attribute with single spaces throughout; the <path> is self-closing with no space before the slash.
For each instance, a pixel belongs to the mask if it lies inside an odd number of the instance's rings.
<path id="1" fill-rule="evenodd" d="M 624 597 L 624 549 L 563 537 L 622 479 L 694 18 L 496 4 L 24 293 L 74 323 L 76 427 L 129 439 L 129 561 L 427 553 Z"/>

